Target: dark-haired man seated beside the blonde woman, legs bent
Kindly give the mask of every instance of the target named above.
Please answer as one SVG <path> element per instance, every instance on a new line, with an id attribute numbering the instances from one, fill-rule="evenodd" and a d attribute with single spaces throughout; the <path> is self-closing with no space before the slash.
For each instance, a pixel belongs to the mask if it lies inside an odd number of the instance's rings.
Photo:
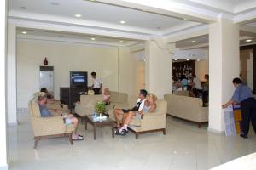
<path id="1" fill-rule="evenodd" d="M 125 117 L 127 116 L 127 114 L 129 113 L 129 111 L 142 111 L 143 110 L 143 106 L 144 106 L 144 102 L 146 99 L 148 92 L 145 89 L 141 89 L 140 93 L 138 95 L 137 99 L 137 104 L 132 108 L 132 109 L 114 109 L 113 110 L 113 114 L 114 114 L 114 118 L 117 122 L 117 127 L 121 127 L 120 125 L 120 115 L 123 115 L 123 120 L 125 120 Z M 116 131 L 117 133 L 117 131 Z M 126 133 L 126 131 L 123 131 L 121 133 Z"/>

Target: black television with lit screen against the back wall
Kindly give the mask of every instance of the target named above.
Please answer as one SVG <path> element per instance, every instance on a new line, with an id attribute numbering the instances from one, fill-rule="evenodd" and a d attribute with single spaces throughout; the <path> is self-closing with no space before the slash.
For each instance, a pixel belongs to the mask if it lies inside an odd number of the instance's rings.
<path id="1" fill-rule="evenodd" d="M 70 88 L 87 88 L 87 72 L 70 71 Z"/>

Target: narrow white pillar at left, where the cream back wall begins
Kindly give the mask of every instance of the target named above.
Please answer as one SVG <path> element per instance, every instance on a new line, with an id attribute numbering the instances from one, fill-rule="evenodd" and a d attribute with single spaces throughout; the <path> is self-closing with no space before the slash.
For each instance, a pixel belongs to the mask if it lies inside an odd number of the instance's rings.
<path id="1" fill-rule="evenodd" d="M 10 23 L 8 24 L 7 75 L 7 120 L 9 124 L 16 124 L 16 26 Z"/>

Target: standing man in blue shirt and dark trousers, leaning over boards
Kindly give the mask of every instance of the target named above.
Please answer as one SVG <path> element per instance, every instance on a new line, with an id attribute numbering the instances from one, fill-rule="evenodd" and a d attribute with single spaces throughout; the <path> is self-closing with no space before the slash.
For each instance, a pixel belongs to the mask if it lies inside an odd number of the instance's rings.
<path id="1" fill-rule="evenodd" d="M 240 136 L 242 138 L 248 138 L 249 125 L 252 121 L 254 132 L 256 133 L 256 100 L 253 97 L 253 92 L 250 88 L 242 84 L 240 78 L 233 79 L 233 85 L 236 90 L 232 96 L 232 98 L 222 105 L 223 108 L 228 107 L 232 104 L 240 104 L 241 105 L 241 129 L 242 132 Z"/>

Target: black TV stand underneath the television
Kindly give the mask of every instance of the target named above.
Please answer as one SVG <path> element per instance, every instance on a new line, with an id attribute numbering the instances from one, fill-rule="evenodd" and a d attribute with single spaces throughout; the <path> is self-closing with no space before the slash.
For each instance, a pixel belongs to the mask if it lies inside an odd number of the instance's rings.
<path id="1" fill-rule="evenodd" d="M 74 108 L 74 103 L 80 101 L 80 93 L 87 92 L 87 88 L 60 88 L 60 100 L 68 105 L 69 109 Z"/>

